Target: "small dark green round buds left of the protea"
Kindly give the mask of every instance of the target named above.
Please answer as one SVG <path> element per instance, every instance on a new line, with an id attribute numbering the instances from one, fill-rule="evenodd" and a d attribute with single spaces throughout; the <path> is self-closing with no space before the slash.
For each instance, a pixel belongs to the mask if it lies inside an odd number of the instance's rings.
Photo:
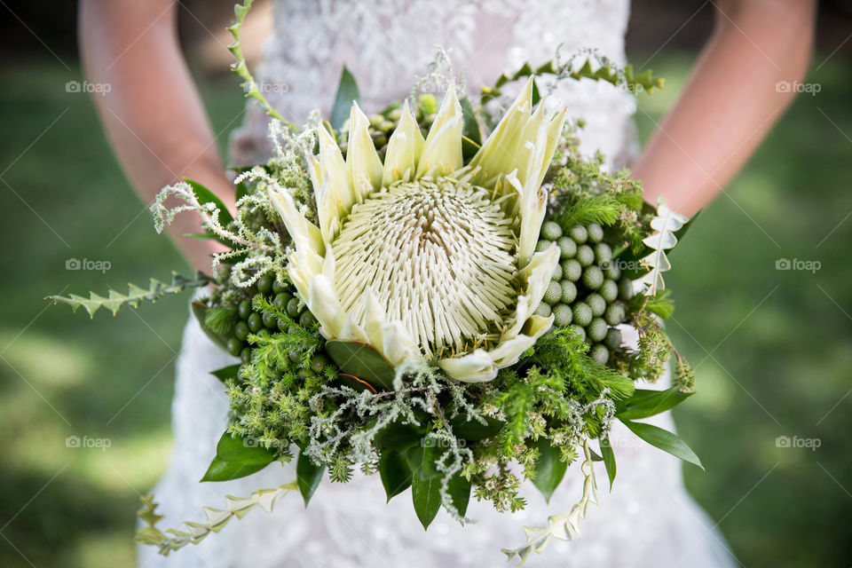
<path id="1" fill-rule="evenodd" d="M 310 326 L 313 315 L 305 308 L 291 290 L 284 288 L 272 276 L 264 274 L 255 284 L 252 298 L 263 296 L 275 304 L 282 312 L 299 322 L 303 327 Z M 237 323 L 233 327 L 233 335 L 228 338 L 228 352 L 234 357 L 240 357 L 243 363 L 251 358 L 251 345 L 248 343 L 249 334 L 271 334 L 287 331 L 286 324 L 274 318 L 267 317 L 254 309 L 251 299 L 246 298 L 237 305 Z"/>

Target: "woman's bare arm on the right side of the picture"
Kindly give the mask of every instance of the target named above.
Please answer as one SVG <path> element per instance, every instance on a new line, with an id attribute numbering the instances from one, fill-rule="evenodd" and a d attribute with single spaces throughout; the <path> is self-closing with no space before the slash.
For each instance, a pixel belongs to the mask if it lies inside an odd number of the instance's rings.
<path id="1" fill-rule="evenodd" d="M 634 164 L 646 199 L 686 215 L 734 177 L 793 100 L 813 41 L 813 0 L 717 0 L 714 34 Z"/>

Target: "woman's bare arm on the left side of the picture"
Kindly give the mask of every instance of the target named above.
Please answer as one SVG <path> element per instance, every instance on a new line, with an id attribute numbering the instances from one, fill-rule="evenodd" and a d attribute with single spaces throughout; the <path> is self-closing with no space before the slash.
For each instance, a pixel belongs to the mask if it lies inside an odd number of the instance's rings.
<path id="1" fill-rule="evenodd" d="M 216 140 L 177 41 L 173 0 L 83 0 L 80 6 L 83 67 L 89 81 L 111 90 L 95 95 L 115 154 L 142 200 L 163 185 L 191 177 L 227 204 Z M 198 233 L 198 217 L 180 215 L 172 236 Z M 209 272 L 214 241 L 176 239 L 190 263 Z"/>

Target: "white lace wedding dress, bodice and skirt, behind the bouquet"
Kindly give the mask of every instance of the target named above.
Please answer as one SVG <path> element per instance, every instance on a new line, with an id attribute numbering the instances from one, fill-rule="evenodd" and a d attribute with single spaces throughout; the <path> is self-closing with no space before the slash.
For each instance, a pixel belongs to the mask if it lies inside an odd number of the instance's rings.
<path id="1" fill-rule="evenodd" d="M 414 75 L 424 75 L 435 46 L 452 49 L 457 71 L 468 84 L 493 83 L 503 71 L 551 59 L 562 43 L 564 53 L 596 48 L 624 62 L 627 0 L 279 0 L 276 35 L 265 46 L 258 79 L 282 114 L 301 121 L 313 108 L 327 115 L 343 63 L 358 78 L 363 107 L 376 112 L 406 96 Z M 282 87 L 286 85 L 286 87 Z M 557 93 L 587 127 L 582 147 L 600 149 L 610 164 L 624 163 L 635 150 L 634 100 L 610 85 L 586 82 Z M 264 161 L 265 119 L 255 106 L 233 139 L 233 161 Z M 295 477 L 294 465 L 273 466 L 226 483 L 198 480 L 225 430 L 228 402 L 221 383 L 209 371 L 233 364 L 201 333 L 194 320 L 186 327 L 177 363 L 172 406 L 175 446 L 170 467 L 154 489 L 162 503 L 164 525 L 201 520 L 201 507 L 219 507 L 225 494 L 248 496 Z M 668 415 L 657 417 L 673 428 Z M 600 507 L 590 509 L 583 535 L 572 542 L 554 540 L 533 556 L 533 566 L 730 566 L 733 559 L 713 523 L 686 493 L 681 464 L 644 444 L 616 425 L 611 434 L 619 463 L 613 491 L 597 464 Z M 526 484 L 528 507 L 515 515 L 494 512 L 490 503 L 471 500 L 473 525 L 461 526 L 442 510 L 423 532 L 410 490 L 385 504 L 378 476 L 356 474 L 351 483 L 319 486 L 311 505 L 287 496 L 272 515 L 252 511 L 233 520 L 199 546 L 168 558 L 140 548 L 139 565 L 184 568 L 251 566 L 500 566 L 501 547 L 524 541 L 522 525 L 543 525 L 565 513 L 580 497 L 579 463 L 573 465 L 549 505 Z"/>

